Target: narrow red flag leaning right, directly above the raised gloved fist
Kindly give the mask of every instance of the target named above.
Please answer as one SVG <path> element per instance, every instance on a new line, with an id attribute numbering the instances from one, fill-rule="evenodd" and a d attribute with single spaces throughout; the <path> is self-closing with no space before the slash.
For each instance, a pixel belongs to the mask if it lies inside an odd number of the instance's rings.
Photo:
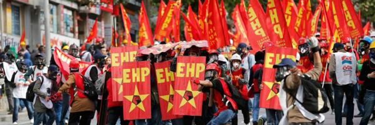
<path id="1" fill-rule="evenodd" d="M 318 27 L 318 21 L 320 17 L 321 6 L 318 6 L 315 10 L 314 16 L 312 16 L 311 20 L 308 21 L 306 25 L 306 36 L 311 37 L 315 36 Z"/>

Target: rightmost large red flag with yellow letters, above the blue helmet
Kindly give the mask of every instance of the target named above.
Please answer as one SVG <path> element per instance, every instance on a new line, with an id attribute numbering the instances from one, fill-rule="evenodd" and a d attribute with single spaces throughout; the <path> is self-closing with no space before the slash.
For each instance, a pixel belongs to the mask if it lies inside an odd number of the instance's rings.
<path id="1" fill-rule="evenodd" d="M 356 10 L 354 10 L 353 3 L 350 0 L 342 1 L 342 10 L 345 15 L 345 21 L 350 31 L 352 39 L 357 39 L 363 36 L 363 29 L 361 20 L 357 17 Z"/>

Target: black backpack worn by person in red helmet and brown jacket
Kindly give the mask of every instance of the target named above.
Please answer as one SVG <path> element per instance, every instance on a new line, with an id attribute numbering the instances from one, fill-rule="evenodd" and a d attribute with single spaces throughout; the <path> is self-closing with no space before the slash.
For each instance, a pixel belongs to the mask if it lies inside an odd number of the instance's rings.
<path id="1" fill-rule="evenodd" d="M 91 81 L 89 78 L 87 78 L 87 77 L 85 77 L 83 75 L 81 75 L 81 76 L 83 77 L 83 84 L 84 84 L 84 88 L 85 88 L 85 90 L 83 91 L 83 93 L 90 100 L 92 100 L 92 101 L 97 100 L 98 99 L 98 94 L 96 93 L 95 83 L 93 83 L 93 81 Z"/>

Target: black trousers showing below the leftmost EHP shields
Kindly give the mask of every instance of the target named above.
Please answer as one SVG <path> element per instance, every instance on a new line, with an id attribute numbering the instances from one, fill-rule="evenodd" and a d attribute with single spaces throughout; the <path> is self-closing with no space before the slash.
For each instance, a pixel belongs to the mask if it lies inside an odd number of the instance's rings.
<path id="1" fill-rule="evenodd" d="M 129 120 L 124 120 L 123 107 L 108 108 L 108 125 L 116 125 L 117 119 L 120 118 L 121 125 L 129 125 Z"/>

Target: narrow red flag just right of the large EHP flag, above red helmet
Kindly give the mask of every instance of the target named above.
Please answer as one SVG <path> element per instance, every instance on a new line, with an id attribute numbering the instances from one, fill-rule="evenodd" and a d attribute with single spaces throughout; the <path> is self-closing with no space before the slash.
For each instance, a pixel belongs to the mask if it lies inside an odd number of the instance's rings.
<path id="1" fill-rule="evenodd" d="M 296 24 L 297 21 L 297 6 L 293 0 L 284 0 L 284 14 L 290 39 L 292 41 L 292 47 L 297 48 L 297 41 L 300 39 L 300 35 L 294 29 L 294 24 Z"/>

